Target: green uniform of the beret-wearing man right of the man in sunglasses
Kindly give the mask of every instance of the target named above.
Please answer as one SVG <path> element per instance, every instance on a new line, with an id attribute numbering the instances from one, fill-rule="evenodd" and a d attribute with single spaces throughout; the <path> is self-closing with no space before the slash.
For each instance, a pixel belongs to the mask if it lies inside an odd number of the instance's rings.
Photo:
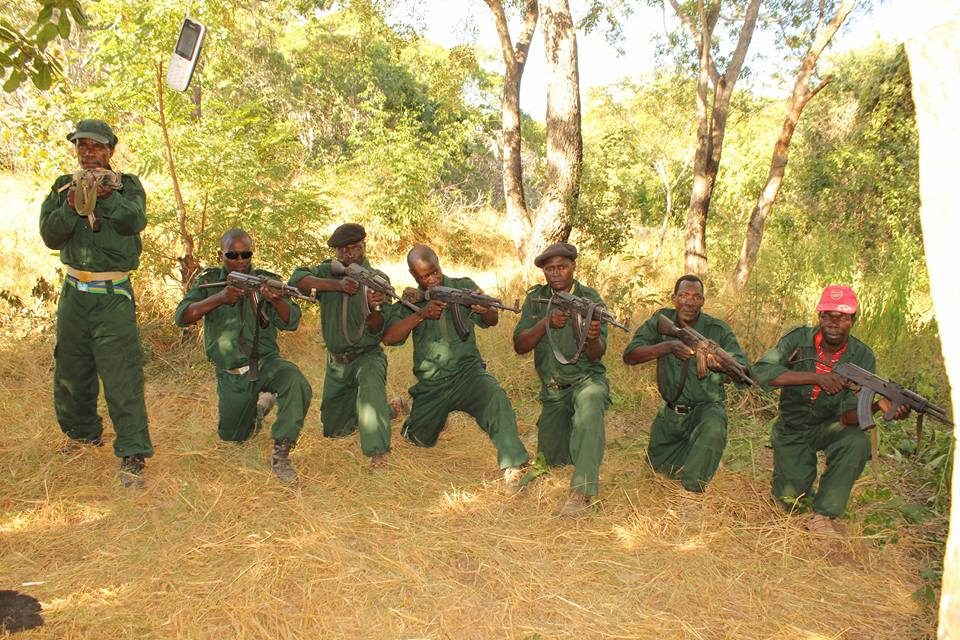
<path id="1" fill-rule="evenodd" d="M 363 266 L 370 268 L 364 258 Z M 386 274 L 377 271 L 389 281 Z M 304 276 L 334 278 L 330 261 L 300 267 L 290 277 L 296 286 Z M 390 450 L 390 405 L 387 403 L 387 357 L 380 346 L 381 333 L 370 333 L 364 324 L 364 298 L 338 291 L 319 291 L 320 327 L 327 345 L 327 371 L 323 379 L 320 423 L 328 438 L 360 429 L 360 448 L 366 456 Z"/>

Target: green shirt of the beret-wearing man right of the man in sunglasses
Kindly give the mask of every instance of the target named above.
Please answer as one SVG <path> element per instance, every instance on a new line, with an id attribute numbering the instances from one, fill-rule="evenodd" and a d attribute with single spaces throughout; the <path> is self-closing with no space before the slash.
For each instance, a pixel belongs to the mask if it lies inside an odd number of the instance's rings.
<path id="1" fill-rule="evenodd" d="M 330 260 L 326 260 L 315 267 L 299 267 L 290 276 L 289 284 L 295 287 L 305 276 L 338 279 L 339 276 L 334 276 L 330 272 L 330 262 Z M 370 268 L 370 263 L 366 258 L 363 259 L 362 264 L 364 267 Z M 374 269 L 374 272 L 381 275 L 387 282 L 390 281 L 387 274 L 382 271 Z M 370 333 L 367 331 L 363 315 L 364 299 L 362 291 L 361 288 L 352 296 L 339 291 L 317 292 L 317 300 L 320 302 L 320 330 L 323 333 L 323 341 L 327 345 L 327 351 L 330 353 L 380 348 L 380 336 L 383 335 L 383 332 Z M 347 304 L 347 336 L 344 336 L 343 327 L 343 304 L 345 300 Z M 386 305 L 384 305 L 384 308 L 386 308 Z M 349 337 L 349 340 L 347 337 Z"/>

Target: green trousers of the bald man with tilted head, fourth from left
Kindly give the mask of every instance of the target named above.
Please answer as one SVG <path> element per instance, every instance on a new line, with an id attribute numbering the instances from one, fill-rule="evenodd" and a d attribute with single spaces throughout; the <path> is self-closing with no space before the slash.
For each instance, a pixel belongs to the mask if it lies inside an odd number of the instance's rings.
<path id="1" fill-rule="evenodd" d="M 517 436 L 517 415 L 496 378 L 479 366 L 470 367 L 439 382 L 421 381 L 410 388 L 413 408 L 401 433 L 421 447 L 437 444 L 451 411 L 463 411 L 480 425 L 497 448 L 501 469 L 519 467 L 529 460 Z"/>

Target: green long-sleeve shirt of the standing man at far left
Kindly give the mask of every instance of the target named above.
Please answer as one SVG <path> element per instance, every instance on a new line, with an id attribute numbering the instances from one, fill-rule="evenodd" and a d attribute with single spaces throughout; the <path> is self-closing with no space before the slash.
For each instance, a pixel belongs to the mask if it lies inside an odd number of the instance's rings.
<path id="1" fill-rule="evenodd" d="M 140 232 L 147 226 L 147 204 L 136 176 L 121 174 L 123 188 L 98 198 L 94 213 L 100 230 L 67 204 L 67 190 L 58 191 L 72 176 L 60 176 L 40 206 L 40 236 L 60 250 L 60 262 L 83 271 L 132 271 L 140 264 Z"/>

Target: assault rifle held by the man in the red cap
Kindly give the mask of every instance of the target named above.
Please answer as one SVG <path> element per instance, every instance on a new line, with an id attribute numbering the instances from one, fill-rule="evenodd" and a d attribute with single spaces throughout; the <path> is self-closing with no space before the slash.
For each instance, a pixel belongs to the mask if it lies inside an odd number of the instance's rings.
<path id="1" fill-rule="evenodd" d="M 890 401 L 890 409 L 884 412 L 883 417 L 891 420 L 902 404 L 917 412 L 917 450 L 920 449 L 920 436 L 923 433 L 923 416 L 931 418 L 949 427 L 953 422 L 947 417 L 947 412 L 938 407 L 916 391 L 911 391 L 896 382 L 884 380 L 850 362 L 839 362 L 833 366 L 833 373 L 844 379 L 848 389 L 857 393 L 857 422 L 860 428 L 866 431 L 876 422 L 873 419 L 873 399 L 877 394 Z"/>

